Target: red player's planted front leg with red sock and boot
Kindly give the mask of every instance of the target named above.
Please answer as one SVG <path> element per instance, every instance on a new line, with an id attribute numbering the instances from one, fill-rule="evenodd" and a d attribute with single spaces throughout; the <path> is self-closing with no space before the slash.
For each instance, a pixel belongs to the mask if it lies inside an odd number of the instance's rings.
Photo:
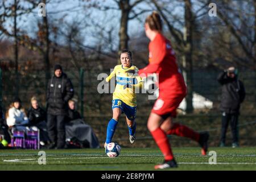
<path id="1" fill-rule="evenodd" d="M 148 130 L 150 131 L 156 144 L 158 145 L 158 147 L 160 148 L 160 150 L 164 155 L 164 163 L 160 165 L 156 165 L 155 169 L 177 167 L 177 164 L 174 160 L 174 155 L 172 154 L 170 142 L 167 138 L 166 133 L 160 127 L 163 121 L 164 121 L 164 118 L 162 118 L 160 115 L 156 113 L 151 112 L 147 122 Z M 168 118 L 166 122 L 168 122 L 168 124 L 171 125 L 172 121 L 170 118 Z"/>

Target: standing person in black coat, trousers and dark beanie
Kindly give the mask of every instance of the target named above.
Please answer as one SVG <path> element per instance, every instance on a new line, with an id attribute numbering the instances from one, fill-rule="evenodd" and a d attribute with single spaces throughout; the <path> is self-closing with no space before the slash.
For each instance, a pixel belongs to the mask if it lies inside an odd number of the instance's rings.
<path id="1" fill-rule="evenodd" d="M 57 64 L 54 75 L 48 82 L 47 88 L 47 127 L 51 139 L 51 148 L 65 146 L 65 117 L 68 110 L 68 100 L 73 97 L 74 90 L 71 80 Z"/>

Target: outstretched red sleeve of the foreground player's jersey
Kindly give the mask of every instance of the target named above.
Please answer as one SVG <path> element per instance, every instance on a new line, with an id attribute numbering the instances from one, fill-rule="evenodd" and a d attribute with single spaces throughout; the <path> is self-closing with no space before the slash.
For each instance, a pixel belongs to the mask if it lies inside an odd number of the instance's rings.
<path id="1" fill-rule="evenodd" d="M 160 71 L 160 63 L 163 61 L 164 56 L 166 56 L 166 43 L 158 42 L 152 44 L 151 53 L 152 57 L 150 64 L 148 64 L 147 67 L 139 70 L 139 76 L 143 76 L 147 73 L 156 73 Z"/>

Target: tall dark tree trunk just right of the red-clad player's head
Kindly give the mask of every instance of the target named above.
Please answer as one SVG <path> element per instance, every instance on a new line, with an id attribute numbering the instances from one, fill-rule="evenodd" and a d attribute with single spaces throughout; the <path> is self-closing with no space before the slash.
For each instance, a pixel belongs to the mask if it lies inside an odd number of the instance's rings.
<path id="1" fill-rule="evenodd" d="M 193 15 L 192 15 L 192 5 L 191 0 L 185 0 L 185 48 L 184 48 L 184 58 L 185 58 L 185 80 L 187 81 L 187 113 L 193 112 L 193 61 L 192 61 L 192 53 L 193 53 Z"/>

